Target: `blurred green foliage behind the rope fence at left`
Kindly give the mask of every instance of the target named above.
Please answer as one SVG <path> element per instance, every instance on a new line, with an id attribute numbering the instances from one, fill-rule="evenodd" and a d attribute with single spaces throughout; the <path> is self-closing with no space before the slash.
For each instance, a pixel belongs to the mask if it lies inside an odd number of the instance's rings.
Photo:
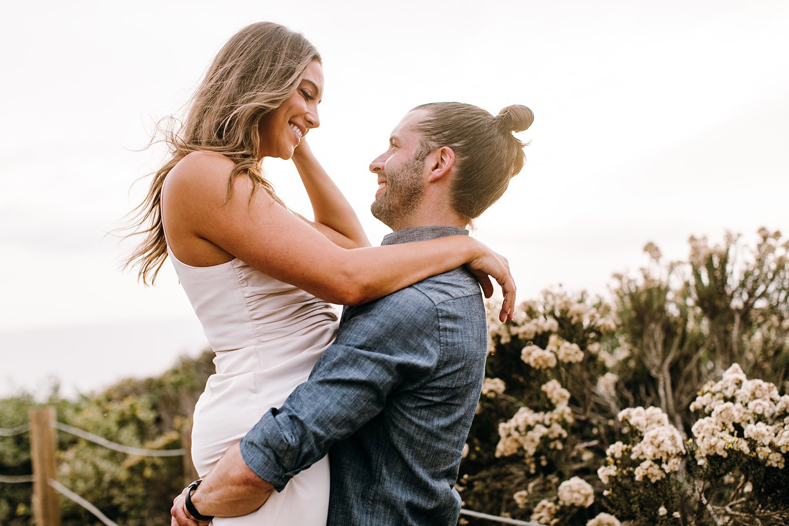
<path id="1" fill-rule="evenodd" d="M 57 392 L 45 401 L 58 420 L 125 446 L 180 448 L 197 397 L 214 371 L 214 353 L 181 358 L 158 378 L 126 379 L 107 390 L 66 401 Z M 23 394 L 0 400 L 0 427 L 28 421 L 36 403 Z M 29 475 L 29 434 L 0 437 L 0 474 Z M 109 450 L 58 431 L 58 478 L 111 520 L 128 526 L 170 524 L 172 498 L 185 483 L 182 457 L 138 457 Z M 32 524 L 32 484 L 0 483 L 0 524 Z M 62 524 L 101 524 L 80 505 L 61 497 Z"/>

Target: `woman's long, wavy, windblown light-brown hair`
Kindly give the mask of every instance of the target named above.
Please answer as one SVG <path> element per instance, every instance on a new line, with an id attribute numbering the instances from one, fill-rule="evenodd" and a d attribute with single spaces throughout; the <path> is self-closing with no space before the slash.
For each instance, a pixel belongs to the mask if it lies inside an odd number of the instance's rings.
<path id="1" fill-rule="evenodd" d="M 189 101 L 180 129 L 172 129 L 174 118 L 165 119 L 170 126 L 159 126 L 157 133 L 169 147 L 170 160 L 153 173 L 151 188 L 132 211 L 128 227 L 133 229 L 129 236 L 144 239 L 125 267 L 139 267 L 138 277 L 144 284 L 155 281 L 167 257 L 159 199 L 167 173 L 185 155 L 215 151 L 235 162 L 226 200 L 230 200 L 236 177 L 243 173 L 254 188 L 264 188 L 282 204 L 260 169 L 258 125 L 264 115 L 293 95 L 313 60 L 320 62 L 320 54 L 301 33 L 272 22 L 248 25 L 233 35 L 211 62 Z"/>

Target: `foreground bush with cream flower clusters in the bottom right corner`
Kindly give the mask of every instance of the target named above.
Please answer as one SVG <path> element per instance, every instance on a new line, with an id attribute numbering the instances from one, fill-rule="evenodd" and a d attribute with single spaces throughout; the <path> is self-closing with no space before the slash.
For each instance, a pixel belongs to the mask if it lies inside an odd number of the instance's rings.
<path id="1" fill-rule="evenodd" d="M 609 509 L 645 524 L 786 524 L 789 396 L 734 364 L 690 409 L 701 417 L 686 441 L 659 408 L 619 414 L 630 438 L 597 470 Z"/>

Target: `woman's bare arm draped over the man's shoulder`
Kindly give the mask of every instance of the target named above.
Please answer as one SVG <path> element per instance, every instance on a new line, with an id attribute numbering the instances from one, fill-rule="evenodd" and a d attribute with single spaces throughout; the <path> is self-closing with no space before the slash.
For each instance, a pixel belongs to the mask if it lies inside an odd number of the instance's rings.
<path id="1" fill-rule="evenodd" d="M 252 192 L 248 177 L 237 177 L 226 202 L 227 177 L 233 166 L 221 155 L 196 153 L 170 171 L 162 199 L 171 244 L 177 241 L 173 235 L 177 231 L 181 239 L 213 247 L 214 255 L 221 250 L 323 300 L 349 305 L 375 300 L 467 263 L 480 279 L 485 296 L 492 294 L 488 275 L 499 282 L 504 293 L 499 318 L 512 317 L 515 285 L 507 260 L 484 244 L 467 236 L 451 236 L 375 248 L 341 248 L 275 203 L 264 190 Z M 200 259 L 197 252 L 193 255 Z"/>

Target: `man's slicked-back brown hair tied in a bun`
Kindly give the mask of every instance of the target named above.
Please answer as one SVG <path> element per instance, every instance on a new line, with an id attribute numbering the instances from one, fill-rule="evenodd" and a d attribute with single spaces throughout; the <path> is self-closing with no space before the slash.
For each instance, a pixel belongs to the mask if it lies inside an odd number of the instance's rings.
<path id="1" fill-rule="evenodd" d="M 512 132 L 528 129 L 534 114 L 526 106 L 507 106 L 498 115 L 464 103 L 429 103 L 414 110 L 428 115 L 416 125 L 422 160 L 439 147 L 452 148 L 458 174 L 450 188 L 452 209 L 471 223 L 499 200 L 510 177 L 525 162 L 523 144 Z"/>

